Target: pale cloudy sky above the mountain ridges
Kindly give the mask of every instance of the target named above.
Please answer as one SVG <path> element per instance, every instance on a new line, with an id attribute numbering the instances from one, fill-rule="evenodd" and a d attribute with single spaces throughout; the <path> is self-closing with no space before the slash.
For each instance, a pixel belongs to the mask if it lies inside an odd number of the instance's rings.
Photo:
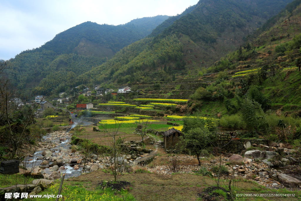
<path id="1" fill-rule="evenodd" d="M 198 0 L 0 0 L 0 59 L 42 46 L 57 33 L 86 21 L 125 24 L 156 15 L 173 16 Z"/>

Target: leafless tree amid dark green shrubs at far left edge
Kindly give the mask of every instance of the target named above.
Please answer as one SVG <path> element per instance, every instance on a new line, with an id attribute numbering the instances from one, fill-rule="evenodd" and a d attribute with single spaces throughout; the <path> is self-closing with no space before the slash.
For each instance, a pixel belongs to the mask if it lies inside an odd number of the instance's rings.
<path id="1" fill-rule="evenodd" d="M 0 61 L 0 132 L 6 136 L 4 144 L 13 149 L 10 159 L 14 158 L 17 150 L 24 142 L 35 138 L 34 132 L 30 132 L 30 126 L 34 124 L 34 112 L 39 104 L 32 104 L 27 110 L 21 110 L 20 105 L 12 99 L 22 99 L 21 90 L 17 90 L 3 73 L 6 63 Z"/>

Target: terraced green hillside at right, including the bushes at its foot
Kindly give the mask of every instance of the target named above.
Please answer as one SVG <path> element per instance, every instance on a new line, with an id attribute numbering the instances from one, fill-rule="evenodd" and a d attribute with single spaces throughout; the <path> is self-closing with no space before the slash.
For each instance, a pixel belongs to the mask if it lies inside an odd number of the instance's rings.
<path id="1" fill-rule="evenodd" d="M 301 123 L 300 8 L 285 11 L 280 23 L 208 68 L 202 79 L 215 81 L 191 96 L 202 102 L 201 115 L 222 116 L 220 125 L 225 128 L 288 132 L 290 140 L 298 138 L 294 129 Z M 293 130 L 277 130 L 279 125 Z"/>

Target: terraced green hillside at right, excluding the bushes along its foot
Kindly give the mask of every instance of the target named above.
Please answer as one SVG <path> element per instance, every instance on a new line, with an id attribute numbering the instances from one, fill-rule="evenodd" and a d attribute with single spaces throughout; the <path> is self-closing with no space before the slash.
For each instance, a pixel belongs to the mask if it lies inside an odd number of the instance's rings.
<path id="1" fill-rule="evenodd" d="M 192 99 L 216 115 L 236 115 L 249 99 L 256 102 L 251 107 L 259 103 L 278 116 L 301 117 L 301 5 L 277 16 L 274 26 L 210 66 L 200 79 L 211 85 L 197 89 Z"/>

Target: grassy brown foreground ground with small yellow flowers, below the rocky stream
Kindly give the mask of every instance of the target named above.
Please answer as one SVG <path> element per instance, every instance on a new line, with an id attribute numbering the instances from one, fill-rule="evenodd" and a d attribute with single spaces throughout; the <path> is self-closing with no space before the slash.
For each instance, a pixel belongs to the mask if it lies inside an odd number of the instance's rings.
<path id="1" fill-rule="evenodd" d="M 121 190 L 120 192 L 111 189 L 101 189 L 99 184 L 103 181 L 111 181 L 114 177 L 110 173 L 98 170 L 92 173 L 82 174 L 79 177 L 73 177 L 64 181 L 62 195 L 65 201 L 69 200 L 123 200 L 122 195 L 127 195 L 126 200 L 134 201 L 152 201 L 152 200 L 165 200 L 165 201 L 184 201 L 184 200 L 202 200 L 198 193 L 210 186 L 216 186 L 214 179 L 203 177 L 194 174 L 151 174 L 151 173 L 135 173 L 117 176 L 117 181 L 128 181 L 131 183 L 129 190 Z M 228 184 L 228 181 L 224 181 Z M 58 189 L 58 182 L 53 187 L 48 188 L 41 194 L 56 193 Z M 227 188 L 222 182 L 221 187 Z M 287 189 L 269 190 L 255 182 L 248 182 L 242 179 L 236 180 L 237 194 L 244 193 L 294 193 L 295 197 L 273 197 L 273 196 L 259 196 L 259 197 L 236 197 L 234 200 L 240 201 L 297 201 L 298 191 L 289 191 Z M 102 199 L 101 199 L 102 198 Z M 225 200 L 219 199 L 218 200 Z M 29 199 L 26 199 L 27 201 Z M 37 200 L 37 199 L 33 199 Z M 49 199 L 39 199 L 49 200 Z M 61 199 L 60 199 L 61 200 Z"/>

